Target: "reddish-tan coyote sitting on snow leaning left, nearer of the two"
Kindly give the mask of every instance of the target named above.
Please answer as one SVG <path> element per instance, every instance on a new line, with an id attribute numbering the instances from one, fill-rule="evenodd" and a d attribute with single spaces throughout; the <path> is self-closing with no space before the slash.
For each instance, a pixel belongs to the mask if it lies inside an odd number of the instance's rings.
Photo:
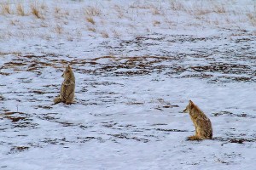
<path id="1" fill-rule="evenodd" d="M 187 105 L 183 113 L 189 113 L 195 125 L 195 135 L 189 136 L 188 140 L 212 139 L 212 123 L 197 105 L 189 100 L 189 105 Z"/>

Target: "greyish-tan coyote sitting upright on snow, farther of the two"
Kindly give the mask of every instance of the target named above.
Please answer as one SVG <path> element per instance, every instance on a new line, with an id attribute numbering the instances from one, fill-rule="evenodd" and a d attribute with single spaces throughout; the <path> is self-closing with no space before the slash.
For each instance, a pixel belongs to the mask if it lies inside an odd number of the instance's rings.
<path id="1" fill-rule="evenodd" d="M 61 84 L 61 94 L 54 99 L 54 104 L 58 104 L 60 102 L 73 104 L 75 77 L 70 65 L 66 67 L 61 77 L 64 77 L 64 81 Z"/>

